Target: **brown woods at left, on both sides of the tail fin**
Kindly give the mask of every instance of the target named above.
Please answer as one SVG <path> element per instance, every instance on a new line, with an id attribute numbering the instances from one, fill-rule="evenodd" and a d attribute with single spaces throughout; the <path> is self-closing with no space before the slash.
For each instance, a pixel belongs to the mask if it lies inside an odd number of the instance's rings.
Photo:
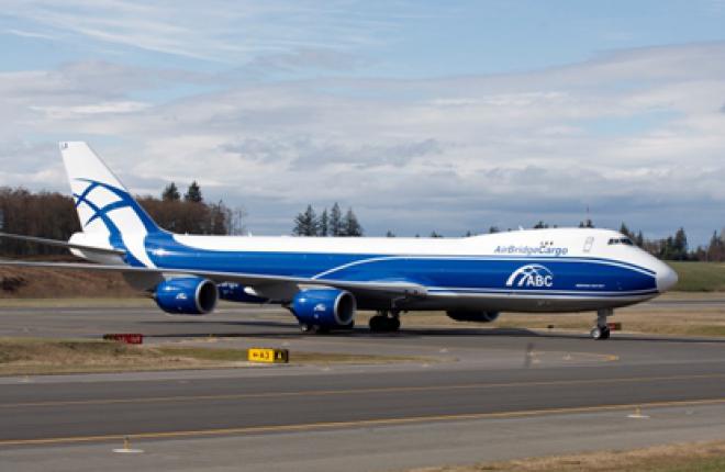
<path id="1" fill-rule="evenodd" d="M 245 212 L 223 201 L 208 203 L 194 181 L 181 195 L 174 182 L 161 192 L 136 196 L 141 206 L 164 229 L 188 234 L 242 234 Z M 80 232 L 80 223 L 70 196 L 58 192 L 31 192 L 24 188 L 0 188 L 0 231 L 49 239 L 67 240 Z M 67 254 L 63 248 L 0 239 L 0 254 L 46 256 Z"/>

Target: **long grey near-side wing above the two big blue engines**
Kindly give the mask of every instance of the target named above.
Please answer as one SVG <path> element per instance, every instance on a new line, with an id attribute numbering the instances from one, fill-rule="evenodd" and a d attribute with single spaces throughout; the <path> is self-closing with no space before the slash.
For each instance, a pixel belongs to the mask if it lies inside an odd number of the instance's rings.
<path id="1" fill-rule="evenodd" d="M 334 279 L 312 279 L 304 277 L 267 276 L 243 272 L 217 272 L 196 269 L 164 269 L 85 262 L 32 262 L 21 260 L 0 260 L 0 267 L 99 270 L 107 272 L 158 276 L 198 276 L 205 277 L 210 280 L 213 280 L 214 282 L 236 282 L 248 286 L 290 283 L 302 285 L 334 286 L 337 289 L 348 290 L 353 293 L 365 292 L 367 294 L 378 295 L 425 296 L 427 293 L 425 286 L 405 281 L 348 281 Z"/>

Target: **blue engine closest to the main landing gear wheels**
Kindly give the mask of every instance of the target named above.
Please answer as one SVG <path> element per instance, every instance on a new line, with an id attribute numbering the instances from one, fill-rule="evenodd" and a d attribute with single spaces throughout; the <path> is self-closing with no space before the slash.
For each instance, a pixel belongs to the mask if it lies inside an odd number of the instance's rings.
<path id="1" fill-rule="evenodd" d="M 292 299 L 290 306 L 301 325 L 321 328 L 347 327 L 355 321 L 355 296 L 337 289 L 302 290 Z"/>

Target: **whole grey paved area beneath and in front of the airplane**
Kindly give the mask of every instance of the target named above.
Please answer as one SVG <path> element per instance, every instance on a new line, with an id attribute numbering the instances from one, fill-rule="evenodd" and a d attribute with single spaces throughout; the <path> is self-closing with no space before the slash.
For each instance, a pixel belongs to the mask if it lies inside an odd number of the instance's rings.
<path id="1" fill-rule="evenodd" d="M 124 469 L 129 462 L 110 452 L 124 436 L 146 451 L 140 463 L 157 470 L 235 470 L 239 461 L 333 470 L 357 457 L 345 464 L 350 471 L 725 438 L 725 341 L 717 339 L 598 342 L 468 327 L 301 336 L 283 312 L 252 307 L 193 319 L 137 307 L 3 308 L 0 325 L 2 336 L 123 330 L 150 342 L 416 359 L 2 378 L 0 463 L 13 470 Z M 636 406 L 651 418 L 627 418 Z M 214 457 L 194 456 L 199 448 Z M 58 454 L 76 459 L 51 462 Z"/>

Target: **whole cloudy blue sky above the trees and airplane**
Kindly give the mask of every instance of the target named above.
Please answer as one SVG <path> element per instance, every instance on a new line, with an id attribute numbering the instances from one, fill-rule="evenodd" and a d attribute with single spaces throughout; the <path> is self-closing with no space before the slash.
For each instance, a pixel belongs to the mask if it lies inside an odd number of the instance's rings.
<path id="1" fill-rule="evenodd" d="M 725 227 L 725 0 L 0 0 L 0 186 L 87 141 L 289 234 Z"/>

